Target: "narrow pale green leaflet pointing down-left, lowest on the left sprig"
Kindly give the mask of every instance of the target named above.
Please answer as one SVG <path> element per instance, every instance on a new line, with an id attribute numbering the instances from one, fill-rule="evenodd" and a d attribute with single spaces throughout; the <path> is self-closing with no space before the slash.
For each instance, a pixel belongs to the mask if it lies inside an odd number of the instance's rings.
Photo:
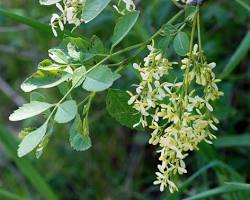
<path id="1" fill-rule="evenodd" d="M 45 122 L 40 128 L 28 134 L 19 144 L 17 155 L 23 157 L 31 152 L 43 140 L 46 134 L 48 123 Z"/>

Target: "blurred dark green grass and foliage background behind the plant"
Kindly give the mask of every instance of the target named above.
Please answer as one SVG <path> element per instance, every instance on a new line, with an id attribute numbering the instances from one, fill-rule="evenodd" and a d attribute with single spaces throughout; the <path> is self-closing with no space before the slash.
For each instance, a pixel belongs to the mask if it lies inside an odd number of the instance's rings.
<path id="1" fill-rule="evenodd" d="M 177 11 L 169 0 L 138 2 L 141 16 L 123 41 L 123 47 L 145 41 Z M 249 186 L 229 184 L 227 187 L 225 184 L 250 182 L 250 60 L 247 54 L 250 11 L 238 2 L 208 1 L 202 7 L 204 49 L 208 60 L 218 63 L 216 73 L 223 78 L 220 87 L 225 95 L 216 107 L 221 124 L 214 145 L 202 144 L 200 151 L 188 158 L 188 174 L 177 181 L 183 187 L 180 193 L 171 196 L 152 186 L 158 158 L 156 149 L 147 144 L 148 133 L 120 126 L 105 109 L 106 92 L 98 94 L 90 112 L 91 149 L 75 152 L 68 142 L 68 127 L 61 125 L 57 126 L 39 160 L 33 155 L 17 159 L 17 133 L 22 127 L 36 122 L 10 123 L 8 116 L 16 104 L 29 99 L 20 90 L 20 83 L 36 70 L 38 62 L 47 57 L 47 50 L 56 46 L 59 40 L 48 31 L 41 31 L 41 26 L 32 29 L 1 14 L 5 9 L 48 24 L 53 7 L 42 7 L 38 1 L 1 1 L 0 199 L 168 200 L 184 199 L 215 187 L 222 187 L 222 193 L 230 192 L 230 188 L 249 192 Z M 249 5 L 248 0 L 244 2 Z M 97 35 L 110 45 L 115 17 L 112 7 L 108 7 L 93 22 L 82 25 L 79 34 L 88 38 Z M 138 62 L 143 55 L 138 56 Z M 172 48 L 168 56 L 173 56 Z M 129 89 L 136 79 L 128 67 L 113 87 Z M 6 95 L 6 88 L 14 91 L 14 96 Z M 57 89 L 42 92 L 51 100 L 59 97 Z M 192 181 L 195 173 L 199 176 Z M 249 196 L 245 194 L 243 191 L 230 192 L 209 199 L 246 200 Z"/>

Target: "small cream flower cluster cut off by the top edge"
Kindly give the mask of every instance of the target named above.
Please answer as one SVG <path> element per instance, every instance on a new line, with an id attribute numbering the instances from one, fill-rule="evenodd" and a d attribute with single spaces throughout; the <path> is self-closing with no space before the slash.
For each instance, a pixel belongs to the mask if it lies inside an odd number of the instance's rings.
<path id="1" fill-rule="evenodd" d="M 61 12 L 61 15 L 54 13 L 52 14 L 50 25 L 54 35 L 57 37 L 56 28 L 64 30 L 65 24 L 73 24 L 75 27 L 80 26 L 83 22 L 80 15 L 82 13 L 82 7 L 84 6 L 85 0 L 63 0 L 63 2 L 56 3 L 56 7 Z"/>

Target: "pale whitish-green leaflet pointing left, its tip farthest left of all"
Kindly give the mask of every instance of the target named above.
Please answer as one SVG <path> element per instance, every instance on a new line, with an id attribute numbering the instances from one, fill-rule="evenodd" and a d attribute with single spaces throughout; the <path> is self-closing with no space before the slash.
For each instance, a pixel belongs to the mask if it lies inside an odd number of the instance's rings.
<path id="1" fill-rule="evenodd" d="M 34 117 L 51 108 L 53 104 L 32 101 L 24 104 L 22 107 L 15 110 L 9 117 L 10 121 L 20 121 L 30 117 Z"/>

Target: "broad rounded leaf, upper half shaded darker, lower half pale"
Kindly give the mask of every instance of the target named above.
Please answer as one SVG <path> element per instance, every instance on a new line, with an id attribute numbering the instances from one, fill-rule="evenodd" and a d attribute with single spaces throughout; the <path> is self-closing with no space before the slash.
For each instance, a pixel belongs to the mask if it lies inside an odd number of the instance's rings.
<path id="1" fill-rule="evenodd" d="M 113 84 L 113 72 L 105 65 L 100 65 L 86 74 L 83 88 L 91 92 L 108 89 Z"/>

